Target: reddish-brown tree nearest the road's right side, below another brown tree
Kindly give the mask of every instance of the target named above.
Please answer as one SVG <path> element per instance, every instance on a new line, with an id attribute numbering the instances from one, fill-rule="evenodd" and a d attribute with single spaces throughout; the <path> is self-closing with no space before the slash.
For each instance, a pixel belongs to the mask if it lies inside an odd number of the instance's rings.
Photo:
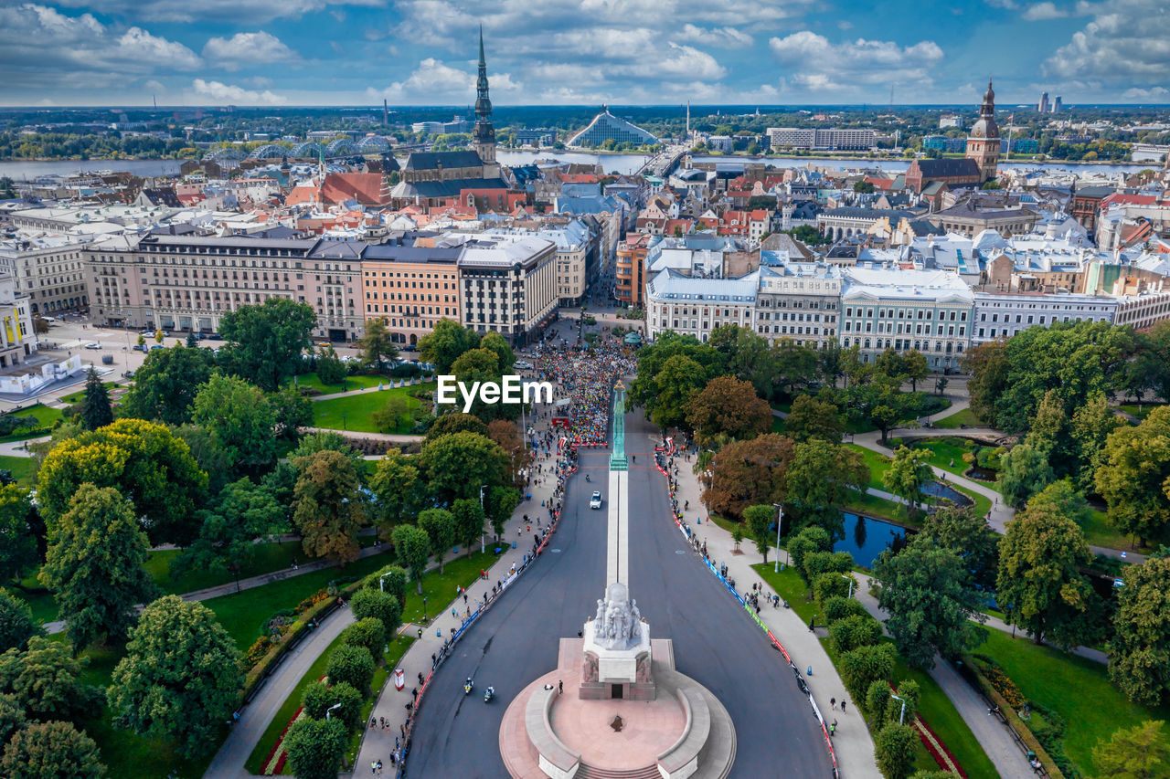
<path id="1" fill-rule="evenodd" d="M 735 516 L 753 503 L 784 503 L 794 456 L 792 439 L 776 433 L 729 443 L 711 461 L 703 501 L 711 511 Z"/>

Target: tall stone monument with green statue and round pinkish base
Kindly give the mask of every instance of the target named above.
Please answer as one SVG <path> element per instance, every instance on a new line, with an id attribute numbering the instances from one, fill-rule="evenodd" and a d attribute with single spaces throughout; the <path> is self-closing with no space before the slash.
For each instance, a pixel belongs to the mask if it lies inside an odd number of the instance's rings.
<path id="1" fill-rule="evenodd" d="M 504 712 L 500 751 L 516 779 L 723 779 L 735 760 L 727 709 L 675 670 L 670 640 L 651 639 L 629 597 L 624 392 L 619 382 L 605 597 L 581 637 L 560 639 L 556 670 L 524 688 Z"/>

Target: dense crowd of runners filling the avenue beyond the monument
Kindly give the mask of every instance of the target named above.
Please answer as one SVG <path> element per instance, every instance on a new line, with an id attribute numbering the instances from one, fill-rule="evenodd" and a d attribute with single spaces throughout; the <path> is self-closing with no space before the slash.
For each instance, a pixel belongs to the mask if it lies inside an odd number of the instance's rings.
<path id="1" fill-rule="evenodd" d="M 556 385 L 555 415 L 572 420 L 565 433 L 569 442 L 606 443 L 610 392 L 618 379 L 636 370 L 629 347 L 612 339 L 598 340 L 584 351 L 545 344 L 537 347 L 537 359 L 539 378 Z M 560 405 L 564 400 L 569 402 Z"/>

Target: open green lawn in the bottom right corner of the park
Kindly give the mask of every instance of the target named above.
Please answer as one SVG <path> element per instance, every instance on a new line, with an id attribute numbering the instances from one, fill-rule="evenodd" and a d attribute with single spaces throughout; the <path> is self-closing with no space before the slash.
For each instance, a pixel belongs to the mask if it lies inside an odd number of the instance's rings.
<path id="1" fill-rule="evenodd" d="M 1093 749 L 1099 740 L 1147 719 L 1170 718 L 1168 704 L 1151 709 L 1127 701 L 1101 663 L 1002 630 L 987 634 L 976 652 L 999 663 L 1025 697 L 1064 717 L 1065 752 L 1087 777 L 1096 775 Z"/>

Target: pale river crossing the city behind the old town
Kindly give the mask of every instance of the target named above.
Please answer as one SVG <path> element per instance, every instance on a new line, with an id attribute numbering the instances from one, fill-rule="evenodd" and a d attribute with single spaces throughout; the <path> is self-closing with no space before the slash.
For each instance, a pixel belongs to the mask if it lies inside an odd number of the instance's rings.
<path id="1" fill-rule="evenodd" d="M 496 159 L 498 159 L 504 165 L 529 165 L 537 160 L 551 160 L 556 159 L 560 163 L 584 163 L 587 165 L 599 164 L 608 173 L 617 171 L 618 173 L 633 173 L 640 168 L 647 160 L 645 154 L 593 154 L 590 152 L 569 152 L 569 151 L 508 151 L 500 150 L 496 152 Z M 909 167 L 909 161 L 900 159 L 817 159 L 812 157 L 696 157 L 696 163 L 748 163 L 748 161 L 765 161 L 769 166 L 776 168 L 787 168 L 787 167 L 804 167 L 806 165 L 817 165 L 820 167 L 827 167 L 832 170 L 847 170 L 847 168 L 878 168 L 880 167 L 883 172 L 890 174 L 903 173 L 907 167 Z M 78 171 L 130 171 L 137 175 L 166 175 L 176 174 L 179 172 L 179 165 L 181 160 L 174 159 L 128 159 L 128 160 L 116 160 L 116 159 L 96 159 L 96 160 L 48 160 L 48 161 L 30 161 L 30 160 L 5 160 L 0 161 L 0 175 L 7 175 L 15 181 L 27 181 L 35 179 L 41 175 L 69 175 Z M 1116 174 L 1116 173 L 1135 173 L 1137 171 L 1150 167 L 1149 163 L 1129 163 L 1124 165 L 1073 165 L 1073 164 L 1061 164 L 1061 163 L 1000 163 L 999 167 L 1002 170 L 1034 170 L 1038 167 L 1045 167 L 1049 171 L 1062 171 L 1067 173 L 1076 173 L 1078 175 L 1093 175 L 1093 174 Z"/>

